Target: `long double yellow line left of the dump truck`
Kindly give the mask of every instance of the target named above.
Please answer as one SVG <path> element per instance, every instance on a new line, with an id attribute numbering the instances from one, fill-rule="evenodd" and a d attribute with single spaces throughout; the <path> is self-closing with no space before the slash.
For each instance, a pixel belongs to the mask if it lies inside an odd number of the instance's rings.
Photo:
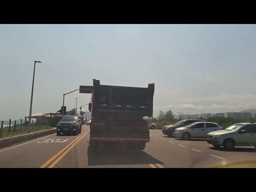
<path id="1" fill-rule="evenodd" d="M 40 168 L 46 168 L 48 164 L 50 164 L 53 160 L 55 160 L 60 154 L 58 159 L 56 159 L 48 168 L 53 168 L 90 130 L 83 133 L 81 136 L 76 138 L 74 141 L 72 141 L 70 144 L 68 144 L 65 148 L 63 148 L 60 152 L 58 152 L 56 155 L 54 155 L 52 158 L 50 158 L 46 163 L 44 163 Z M 66 150 L 67 149 L 67 150 Z M 66 151 L 65 151 L 66 150 Z M 65 151 L 65 152 L 64 152 Z M 64 153 L 63 153 L 64 152 Z M 62 154 L 63 153 L 63 154 Z"/>

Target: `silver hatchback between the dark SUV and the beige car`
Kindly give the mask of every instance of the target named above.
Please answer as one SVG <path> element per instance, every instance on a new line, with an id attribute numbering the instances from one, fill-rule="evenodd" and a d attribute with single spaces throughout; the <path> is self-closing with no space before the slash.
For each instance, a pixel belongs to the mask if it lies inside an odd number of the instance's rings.
<path id="1" fill-rule="evenodd" d="M 175 129 L 174 135 L 178 138 L 189 140 L 190 138 L 206 138 L 208 133 L 218 130 L 223 130 L 218 123 L 195 122 Z"/>

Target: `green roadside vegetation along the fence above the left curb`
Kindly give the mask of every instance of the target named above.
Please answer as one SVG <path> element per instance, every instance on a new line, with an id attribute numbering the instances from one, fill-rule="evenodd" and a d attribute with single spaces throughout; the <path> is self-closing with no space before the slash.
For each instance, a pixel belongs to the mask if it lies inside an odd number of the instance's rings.
<path id="1" fill-rule="evenodd" d="M 28 129 L 28 126 L 27 126 L 27 129 Z M 14 125 L 13 125 L 13 126 L 11 126 L 10 133 L 8 133 L 9 126 L 8 127 L 3 127 L 3 132 L 2 132 L 2 136 L 0 137 L 0 139 L 27 134 L 27 129 L 26 129 L 25 124 L 22 124 L 21 131 L 20 131 L 20 125 L 16 124 L 15 132 L 14 132 Z M 36 125 L 34 125 L 33 130 L 32 130 L 32 126 L 31 126 L 30 129 L 31 129 L 30 133 L 34 133 L 34 132 L 39 132 L 39 131 L 50 130 L 50 129 L 52 129 L 52 127 L 50 127 L 50 126 L 41 126 L 41 127 L 38 126 L 38 128 L 37 128 Z"/>

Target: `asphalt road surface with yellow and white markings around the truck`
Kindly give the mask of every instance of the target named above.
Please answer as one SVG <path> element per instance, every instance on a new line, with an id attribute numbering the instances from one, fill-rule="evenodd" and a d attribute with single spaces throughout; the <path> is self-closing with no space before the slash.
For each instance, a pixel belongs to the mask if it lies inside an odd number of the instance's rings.
<path id="1" fill-rule="evenodd" d="M 88 154 L 89 126 L 78 136 L 52 134 L 0 149 L 0 168 L 204 168 L 229 161 L 255 160 L 256 148 L 213 148 L 205 139 L 183 141 L 150 130 L 143 151 Z"/>

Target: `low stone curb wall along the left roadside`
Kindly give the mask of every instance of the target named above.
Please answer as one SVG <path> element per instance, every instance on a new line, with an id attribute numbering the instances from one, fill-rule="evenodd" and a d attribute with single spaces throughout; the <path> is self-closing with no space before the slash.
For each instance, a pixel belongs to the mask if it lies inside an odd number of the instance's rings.
<path id="1" fill-rule="evenodd" d="M 0 148 L 56 133 L 56 128 L 0 139 Z"/>

